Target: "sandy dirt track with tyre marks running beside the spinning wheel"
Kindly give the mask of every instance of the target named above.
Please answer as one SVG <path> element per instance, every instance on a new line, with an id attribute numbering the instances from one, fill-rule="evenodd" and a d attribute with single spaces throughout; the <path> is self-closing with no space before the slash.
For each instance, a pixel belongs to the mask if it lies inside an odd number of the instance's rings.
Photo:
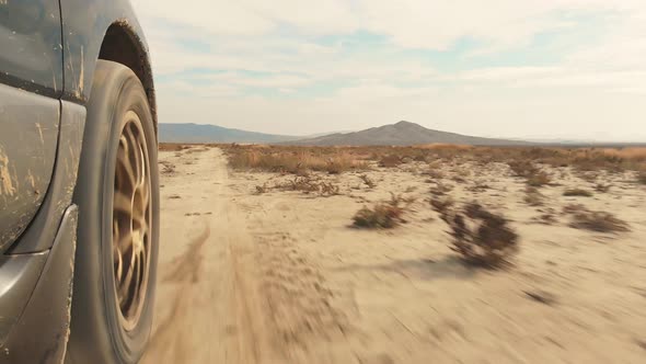
<path id="1" fill-rule="evenodd" d="M 304 362 L 308 334 L 342 332 L 320 276 L 285 237 L 250 232 L 220 150 L 161 160 L 175 170 L 162 178 L 155 325 L 142 363 Z M 321 362 L 347 362 L 330 355 Z"/>

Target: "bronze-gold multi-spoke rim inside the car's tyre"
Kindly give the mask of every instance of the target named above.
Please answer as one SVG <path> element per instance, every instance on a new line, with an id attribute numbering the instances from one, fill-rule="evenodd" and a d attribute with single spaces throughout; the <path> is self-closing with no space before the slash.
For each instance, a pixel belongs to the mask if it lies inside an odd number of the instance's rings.
<path id="1" fill-rule="evenodd" d="M 139 321 L 148 286 L 151 251 L 150 162 L 139 116 L 125 115 L 116 158 L 113 204 L 114 282 L 120 323 Z"/>

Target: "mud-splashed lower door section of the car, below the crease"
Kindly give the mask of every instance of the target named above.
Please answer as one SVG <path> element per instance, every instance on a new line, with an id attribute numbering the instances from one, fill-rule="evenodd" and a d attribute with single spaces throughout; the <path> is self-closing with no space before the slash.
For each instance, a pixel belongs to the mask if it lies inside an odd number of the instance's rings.
<path id="1" fill-rule="evenodd" d="M 27 227 L 47 192 L 60 101 L 0 83 L 0 252 Z"/>

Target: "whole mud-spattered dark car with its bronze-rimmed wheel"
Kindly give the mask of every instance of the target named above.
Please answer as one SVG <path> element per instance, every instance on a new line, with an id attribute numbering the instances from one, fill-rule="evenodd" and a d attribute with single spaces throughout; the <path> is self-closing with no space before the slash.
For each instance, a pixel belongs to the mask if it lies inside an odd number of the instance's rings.
<path id="1" fill-rule="evenodd" d="M 137 363 L 159 252 L 149 48 L 127 0 L 0 0 L 0 363 Z"/>

